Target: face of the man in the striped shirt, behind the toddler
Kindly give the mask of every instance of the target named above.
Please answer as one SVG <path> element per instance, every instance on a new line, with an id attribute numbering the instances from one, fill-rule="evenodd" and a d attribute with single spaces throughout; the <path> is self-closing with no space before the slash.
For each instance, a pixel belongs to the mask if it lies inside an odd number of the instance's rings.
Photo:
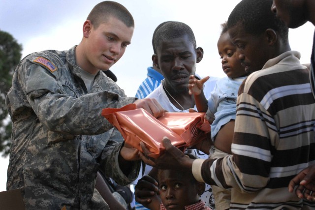
<path id="1" fill-rule="evenodd" d="M 243 27 L 235 26 L 228 30 L 232 43 L 236 46 L 237 58 L 241 60 L 245 71 L 252 73 L 261 70 L 270 59 L 269 44 L 264 33 L 252 35 L 244 32 Z"/>

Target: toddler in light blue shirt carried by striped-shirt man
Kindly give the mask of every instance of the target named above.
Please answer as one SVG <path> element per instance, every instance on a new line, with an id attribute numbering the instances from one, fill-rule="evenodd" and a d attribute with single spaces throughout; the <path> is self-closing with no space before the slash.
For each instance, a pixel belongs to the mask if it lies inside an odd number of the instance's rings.
<path id="1" fill-rule="evenodd" d="M 218 40 L 218 51 L 222 60 L 222 69 L 227 77 L 217 81 L 208 101 L 202 91 L 204 81 L 195 79 L 193 75 L 189 79 L 189 93 L 194 94 L 198 111 L 207 112 L 207 116 L 214 119 L 211 120 L 211 122 L 213 121 L 211 124 L 211 138 L 214 141 L 215 149 L 211 149 L 211 152 L 214 152 L 210 154 L 211 158 L 221 158 L 231 154 L 237 92 L 248 75 L 240 60 L 237 59 L 236 46 L 230 40 L 226 23 L 221 26 L 222 32 Z M 212 187 L 216 209 L 229 209 L 230 190 L 218 186 Z"/>

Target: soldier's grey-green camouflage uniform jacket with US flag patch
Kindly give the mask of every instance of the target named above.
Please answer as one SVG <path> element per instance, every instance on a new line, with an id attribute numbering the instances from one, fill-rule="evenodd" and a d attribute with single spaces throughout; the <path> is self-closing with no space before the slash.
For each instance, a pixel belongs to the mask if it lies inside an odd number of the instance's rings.
<path id="1" fill-rule="evenodd" d="M 35 62 L 38 57 L 57 70 Z M 97 170 L 121 185 L 138 175 L 140 161 L 132 162 L 128 177 L 122 173 L 122 143 L 112 141 L 112 125 L 101 116 L 103 108 L 135 98 L 101 71 L 87 94 L 80 70 L 73 47 L 33 53 L 14 72 L 5 101 L 13 123 L 7 189 L 21 188 L 27 209 L 107 210 L 94 189 Z"/>

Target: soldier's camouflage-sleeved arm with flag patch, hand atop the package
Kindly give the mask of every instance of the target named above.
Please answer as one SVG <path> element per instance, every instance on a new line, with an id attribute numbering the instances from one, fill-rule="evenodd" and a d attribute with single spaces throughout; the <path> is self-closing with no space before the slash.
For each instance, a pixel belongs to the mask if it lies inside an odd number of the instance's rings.
<path id="1" fill-rule="evenodd" d="M 32 54 L 32 57 L 36 56 L 41 55 Z M 51 72 L 33 63 L 32 57 L 27 57 L 27 61 L 19 67 L 19 82 L 38 119 L 50 131 L 70 135 L 103 133 L 113 126 L 101 116 L 102 109 L 120 108 L 130 103 L 135 103 L 137 108 L 143 108 L 155 117 L 164 112 L 156 100 L 126 97 L 124 90 L 110 79 L 107 79 L 110 83 L 108 90 L 91 90 L 92 93 L 77 97 L 69 93 L 69 88 L 60 81 L 61 69 Z"/>

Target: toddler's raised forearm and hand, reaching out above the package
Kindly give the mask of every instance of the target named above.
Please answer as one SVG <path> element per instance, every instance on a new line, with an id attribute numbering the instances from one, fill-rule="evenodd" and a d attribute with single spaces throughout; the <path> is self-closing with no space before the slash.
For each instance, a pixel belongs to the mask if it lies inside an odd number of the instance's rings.
<path id="1" fill-rule="evenodd" d="M 202 78 L 197 80 L 194 75 L 189 76 L 189 94 L 194 96 L 195 104 L 198 112 L 207 112 L 208 101 L 203 93 L 203 84 L 209 80 L 210 77 Z"/>

